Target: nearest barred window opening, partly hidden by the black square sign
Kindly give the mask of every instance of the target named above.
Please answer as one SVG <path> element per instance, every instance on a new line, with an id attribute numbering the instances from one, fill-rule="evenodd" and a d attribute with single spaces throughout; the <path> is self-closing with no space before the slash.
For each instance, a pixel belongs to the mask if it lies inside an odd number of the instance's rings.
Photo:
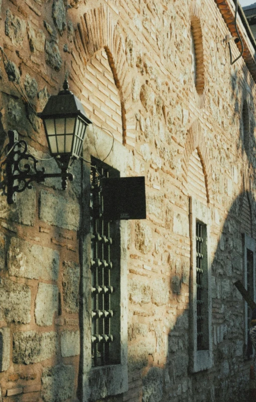
<path id="1" fill-rule="evenodd" d="M 103 219 L 102 178 L 118 177 L 91 161 L 91 358 L 92 366 L 120 363 L 120 225 Z"/>

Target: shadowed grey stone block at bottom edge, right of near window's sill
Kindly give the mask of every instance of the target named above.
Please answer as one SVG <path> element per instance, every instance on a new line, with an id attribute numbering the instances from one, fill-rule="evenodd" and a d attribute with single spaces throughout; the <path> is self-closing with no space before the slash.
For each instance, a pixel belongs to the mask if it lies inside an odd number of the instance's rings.
<path id="1" fill-rule="evenodd" d="M 159 402 L 163 396 L 164 371 L 151 367 L 143 377 L 143 402 Z"/>

